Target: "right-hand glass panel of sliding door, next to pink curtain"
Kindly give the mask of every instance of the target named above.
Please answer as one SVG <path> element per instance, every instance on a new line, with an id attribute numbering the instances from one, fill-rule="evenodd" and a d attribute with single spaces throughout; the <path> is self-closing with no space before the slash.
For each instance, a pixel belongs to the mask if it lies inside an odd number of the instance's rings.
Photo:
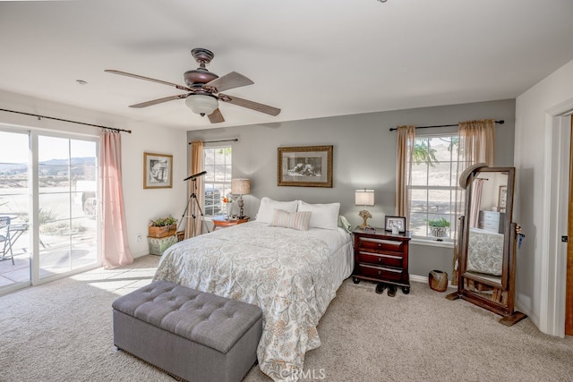
<path id="1" fill-rule="evenodd" d="M 39 277 L 95 264 L 97 144 L 38 136 Z"/>

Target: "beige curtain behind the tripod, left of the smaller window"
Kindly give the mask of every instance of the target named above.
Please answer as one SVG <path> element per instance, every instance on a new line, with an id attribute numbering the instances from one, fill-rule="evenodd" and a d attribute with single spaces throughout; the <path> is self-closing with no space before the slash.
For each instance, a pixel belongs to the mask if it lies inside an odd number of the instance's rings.
<path id="1" fill-rule="evenodd" d="M 199 174 L 203 171 L 203 142 L 201 140 L 193 140 L 191 142 L 189 168 L 191 169 L 191 174 Z M 201 234 L 203 216 L 201 216 L 199 207 L 203 205 L 203 192 L 201 191 L 203 189 L 202 179 L 202 176 L 200 176 L 195 178 L 194 181 L 187 181 L 189 183 L 189 195 L 191 196 L 194 193 L 196 199 L 190 198 L 189 205 L 187 206 L 185 239 Z M 196 204 L 195 201 L 197 202 Z"/>

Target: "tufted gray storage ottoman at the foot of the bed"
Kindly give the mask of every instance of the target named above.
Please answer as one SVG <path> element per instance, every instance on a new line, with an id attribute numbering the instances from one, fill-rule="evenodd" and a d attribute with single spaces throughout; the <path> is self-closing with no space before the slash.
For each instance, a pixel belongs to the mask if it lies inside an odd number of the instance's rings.
<path id="1" fill-rule="evenodd" d="M 114 344 L 178 378 L 240 381 L 257 361 L 255 305 L 155 281 L 112 304 Z"/>

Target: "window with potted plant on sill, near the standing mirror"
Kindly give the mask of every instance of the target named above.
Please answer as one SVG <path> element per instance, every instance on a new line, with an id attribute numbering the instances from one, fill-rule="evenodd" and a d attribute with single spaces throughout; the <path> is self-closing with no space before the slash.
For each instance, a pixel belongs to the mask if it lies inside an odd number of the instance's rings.
<path id="1" fill-rule="evenodd" d="M 419 238 L 452 241 L 456 230 L 458 134 L 415 138 L 412 155 L 410 231 Z M 459 203 L 459 202 L 458 202 Z M 432 222 L 440 228 L 432 228 Z"/>

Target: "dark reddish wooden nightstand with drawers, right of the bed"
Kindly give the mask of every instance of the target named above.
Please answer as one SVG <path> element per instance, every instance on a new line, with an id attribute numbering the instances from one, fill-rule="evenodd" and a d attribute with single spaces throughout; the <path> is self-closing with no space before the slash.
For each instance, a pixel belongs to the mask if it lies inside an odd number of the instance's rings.
<path id="1" fill-rule="evenodd" d="M 355 270 L 352 277 L 355 284 L 361 279 L 395 284 L 402 287 L 405 294 L 410 293 L 408 245 L 411 234 L 392 234 L 383 228 L 376 228 L 375 233 L 356 228 L 353 234 Z"/>

